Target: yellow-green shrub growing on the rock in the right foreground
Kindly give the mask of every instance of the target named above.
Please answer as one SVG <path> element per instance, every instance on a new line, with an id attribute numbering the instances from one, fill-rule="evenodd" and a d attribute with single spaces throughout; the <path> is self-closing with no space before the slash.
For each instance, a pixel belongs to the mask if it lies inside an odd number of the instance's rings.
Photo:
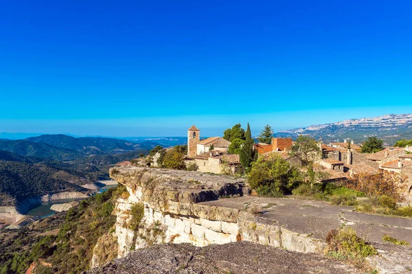
<path id="1" fill-rule="evenodd" d="M 350 227 L 331 229 L 326 236 L 326 242 L 328 247 L 325 252 L 339 260 L 363 261 L 367 256 L 378 253 Z"/>

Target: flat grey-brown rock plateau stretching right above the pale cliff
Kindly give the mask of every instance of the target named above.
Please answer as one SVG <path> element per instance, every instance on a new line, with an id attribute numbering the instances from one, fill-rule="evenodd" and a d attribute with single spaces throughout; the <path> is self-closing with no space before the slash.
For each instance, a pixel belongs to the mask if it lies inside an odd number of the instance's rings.
<path id="1" fill-rule="evenodd" d="M 255 215 L 255 222 L 278 224 L 282 228 L 312 238 L 325 240 L 330 229 L 350 226 L 369 242 L 382 243 L 387 234 L 398 240 L 406 240 L 412 245 L 412 220 L 354 212 L 351 206 L 333 206 L 325 201 L 290 198 L 236 197 L 200 203 L 220 208 L 260 208 L 262 213 Z"/>

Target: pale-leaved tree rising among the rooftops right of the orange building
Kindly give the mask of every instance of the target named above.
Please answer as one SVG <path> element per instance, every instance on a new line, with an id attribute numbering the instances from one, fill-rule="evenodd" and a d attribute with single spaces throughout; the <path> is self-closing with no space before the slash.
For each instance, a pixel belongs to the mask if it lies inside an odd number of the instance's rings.
<path id="1" fill-rule="evenodd" d="M 308 166 L 314 160 L 321 157 L 321 151 L 316 140 L 310 136 L 300 135 L 292 145 L 290 156 L 299 158 L 304 166 Z"/>

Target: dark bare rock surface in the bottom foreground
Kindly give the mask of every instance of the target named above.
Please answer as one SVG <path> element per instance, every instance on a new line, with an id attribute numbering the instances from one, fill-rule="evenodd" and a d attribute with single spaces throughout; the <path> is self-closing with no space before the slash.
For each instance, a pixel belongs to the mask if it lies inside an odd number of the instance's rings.
<path id="1" fill-rule="evenodd" d="M 194 247 L 153 245 L 92 269 L 90 274 L 132 273 L 363 273 L 354 266 L 315 254 L 284 251 L 252 242 Z"/>

